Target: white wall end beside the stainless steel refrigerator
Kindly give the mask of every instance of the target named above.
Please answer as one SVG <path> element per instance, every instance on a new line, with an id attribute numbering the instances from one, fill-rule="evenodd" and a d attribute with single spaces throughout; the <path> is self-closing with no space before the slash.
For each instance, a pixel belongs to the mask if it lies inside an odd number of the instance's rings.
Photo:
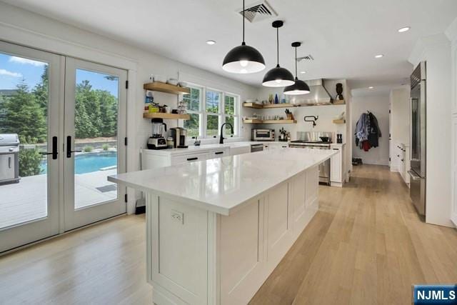
<path id="1" fill-rule="evenodd" d="M 451 223 L 451 44 L 444 34 L 424 37 L 409 59 L 427 61 L 426 222 Z"/>

